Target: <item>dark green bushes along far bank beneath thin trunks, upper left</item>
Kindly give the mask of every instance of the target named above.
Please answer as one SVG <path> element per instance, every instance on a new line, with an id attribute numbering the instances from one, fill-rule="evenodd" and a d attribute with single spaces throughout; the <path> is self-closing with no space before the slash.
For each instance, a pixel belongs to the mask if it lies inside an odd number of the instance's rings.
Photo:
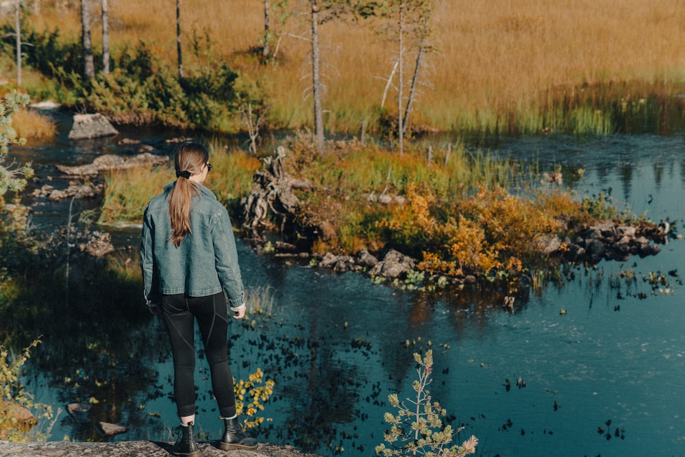
<path id="1" fill-rule="evenodd" d="M 14 53 L 10 25 L 0 27 L 0 49 Z M 25 65 L 38 71 L 49 82 L 32 88 L 42 96 L 63 103 L 83 105 L 86 110 L 109 116 L 116 123 L 158 124 L 205 131 L 234 130 L 238 74 L 226 62 L 206 56 L 202 65 L 188 66 L 179 80 L 175 69 L 153 53 L 146 42 L 125 47 L 112 56 L 109 75 L 98 73 L 94 79 L 82 77 L 82 45 L 60 36 L 60 30 L 24 32 L 32 43 L 24 53 Z M 95 55 L 98 59 L 99 56 Z M 99 60 L 98 60 L 99 61 Z"/>

